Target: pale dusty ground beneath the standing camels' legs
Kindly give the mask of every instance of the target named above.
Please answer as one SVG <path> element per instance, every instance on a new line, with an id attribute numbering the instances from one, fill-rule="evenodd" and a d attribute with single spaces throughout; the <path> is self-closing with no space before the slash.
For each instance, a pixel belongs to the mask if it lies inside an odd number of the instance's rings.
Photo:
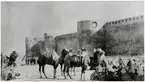
<path id="1" fill-rule="evenodd" d="M 64 76 L 61 76 L 60 67 L 57 68 L 57 78 L 53 79 L 53 67 L 50 65 L 45 66 L 45 73 L 48 78 L 45 78 L 42 74 L 43 78 L 40 78 L 38 65 L 28 65 L 28 66 L 19 66 L 16 68 L 20 72 L 20 77 L 14 79 L 13 81 L 46 81 L 46 80 L 70 80 L 69 77 L 64 79 Z M 93 71 L 87 70 L 86 71 L 86 80 L 90 80 L 90 74 Z M 80 80 L 81 68 L 76 68 L 76 76 L 72 72 L 70 72 L 72 76 L 72 80 L 78 81 Z"/>

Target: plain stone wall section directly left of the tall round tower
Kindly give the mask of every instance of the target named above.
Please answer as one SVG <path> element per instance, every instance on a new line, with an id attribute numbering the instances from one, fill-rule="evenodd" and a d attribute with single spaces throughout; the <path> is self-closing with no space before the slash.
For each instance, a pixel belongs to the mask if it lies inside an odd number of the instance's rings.
<path id="1" fill-rule="evenodd" d="M 61 52 L 64 48 L 68 49 L 72 48 L 73 53 L 76 54 L 78 46 L 77 33 L 57 36 L 55 38 L 55 44 L 56 44 L 56 52 L 58 53 L 58 55 L 61 55 Z"/>

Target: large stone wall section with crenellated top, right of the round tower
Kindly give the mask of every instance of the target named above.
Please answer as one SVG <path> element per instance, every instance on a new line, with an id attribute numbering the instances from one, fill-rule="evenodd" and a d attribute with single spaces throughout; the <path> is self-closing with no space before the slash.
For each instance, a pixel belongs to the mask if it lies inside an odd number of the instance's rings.
<path id="1" fill-rule="evenodd" d="M 121 21 L 121 22 L 119 22 Z M 143 55 L 143 16 L 112 21 L 105 24 L 107 55 Z"/>

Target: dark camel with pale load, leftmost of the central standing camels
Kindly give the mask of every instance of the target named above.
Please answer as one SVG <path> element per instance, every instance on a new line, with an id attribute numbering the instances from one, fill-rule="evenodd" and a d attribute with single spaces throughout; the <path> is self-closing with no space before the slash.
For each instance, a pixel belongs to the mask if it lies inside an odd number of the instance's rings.
<path id="1" fill-rule="evenodd" d="M 55 52 L 55 50 L 52 50 L 52 52 L 50 53 L 46 53 L 46 52 L 39 52 L 39 58 L 37 60 L 37 63 L 39 65 L 39 73 L 40 73 L 40 78 L 42 78 L 41 76 L 41 67 L 42 67 L 42 72 L 45 76 L 45 78 L 47 78 L 46 74 L 45 74 L 45 71 L 44 71 L 44 68 L 45 68 L 45 65 L 48 64 L 48 65 L 52 65 L 53 66 L 53 69 L 54 69 L 54 75 L 53 75 L 53 78 L 55 79 L 56 78 L 56 69 L 59 65 L 59 55 Z"/>

